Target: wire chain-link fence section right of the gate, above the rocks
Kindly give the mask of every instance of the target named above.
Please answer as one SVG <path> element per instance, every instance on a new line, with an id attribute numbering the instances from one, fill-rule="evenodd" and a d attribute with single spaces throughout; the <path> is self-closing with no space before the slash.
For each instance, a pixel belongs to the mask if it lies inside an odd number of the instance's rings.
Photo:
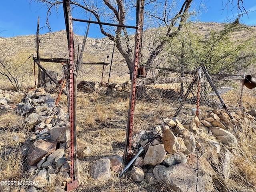
<path id="1" fill-rule="evenodd" d="M 157 70 L 156 74 L 155 69 L 151 70 L 155 71 L 154 76 L 137 76 L 134 134 L 141 130 L 154 130 L 166 118 L 177 117 L 187 123 L 196 115 L 197 107 L 201 117 L 210 110 L 223 109 L 204 74 L 199 82 L 198 73 L 180 77 L 178 71 Z M 211 76 L 230 112 L 241 111 L 242 78 L 242 74 Z"/>

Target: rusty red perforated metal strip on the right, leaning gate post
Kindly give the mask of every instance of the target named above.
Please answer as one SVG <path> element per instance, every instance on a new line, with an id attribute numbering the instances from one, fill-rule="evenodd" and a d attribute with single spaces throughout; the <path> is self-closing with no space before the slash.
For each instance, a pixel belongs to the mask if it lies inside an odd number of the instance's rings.
<path id="1" fill-rule="evenodd" d="M 136 75 L 137 75 L 139 48 L 140 48 L 140 30 L 141 28 L 139 24 L 138 30 L 137 30 L 136 49 L 135 49 L 135 57 L 134 57 L 134 70 L 132 73 L 132 87 L 130 92 L 128 124 L 127 124 L 126 141 L 125 141 L 125 148 L 124 148 L 124 159 L 126 161 L 128 161 L 131 158 L 132 127 L 133 127 L 133 118 L 134 118 L 134 109 L 135 109 Z"/>

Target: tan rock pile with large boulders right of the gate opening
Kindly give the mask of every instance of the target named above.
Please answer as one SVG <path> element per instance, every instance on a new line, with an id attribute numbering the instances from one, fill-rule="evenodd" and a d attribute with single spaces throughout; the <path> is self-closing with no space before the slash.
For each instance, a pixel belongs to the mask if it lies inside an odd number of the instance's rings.
<path id="1" fill-rule="evenodd" d="M 247 115 L 248 118 L 254 118 L 250 114 Z M 146 180 L 151 184 L 156 181 L 168 184 L 176 192 L 214 191 L 212 178 L 217 173 L 211 164 L 216 163 L 222 168 L 224 178 L 230 176 L 231 168 L 228 162 L 232 158 L 232 152 L 228 148 L 238 146 L 232 132 L 235 131 L 234 125 L 240 122 L 236 114 L 230 119 L 228 114 L 221 110 L 213 110 L 201 120 L 195 116 L 191 121 L 183 123 L 184 125 L 177 118 L 166 118 L 153 130 L 142 130 L 133 136 L 134 154 L 142 147 L 146 152 L 142 152 L 134 161 L 129 169 L 130 176 L 135 182 Z M 147 147 L 147 144 L 150 146 Z M 212 157 L 211 164 L 202 155 L 204 153 Z M 220 154 L 225 158 L 222 162 L 216 162 L 218 158 L 214 157 Z M 92 165 L 92 178 L 110 178 L 110 170 L 113 171 L 113 164 L 116 164 L 111 158 L 102 158 Z M 118 164 L 120 168 L 124 166 L 122 157 Z M 100 169 L 102 167 L 104 170 Z M 122 169 L 115 171 L 122 172 Z"/>

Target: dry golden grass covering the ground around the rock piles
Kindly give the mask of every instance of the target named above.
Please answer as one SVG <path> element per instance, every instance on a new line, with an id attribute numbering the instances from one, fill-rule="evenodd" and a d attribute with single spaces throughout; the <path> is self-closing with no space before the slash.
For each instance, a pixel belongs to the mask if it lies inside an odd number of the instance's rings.
<path id="1" fill-rule="evenodd" d="M 97 182 L 90 177 L 90 166 L 99 158 L 112 155 L 123 155 L 124 141 L 126 137 L 127 112 L 129 106 L 129 92 L 107 92 L 94 90 L 91 93 L 78 92 L 77 95 L 77 142 L 78 159 L 80 161 L 80 170 L 82 180 L 77 188 L 78 192 L 170 192 L 172 191 L 167 184 L 157 182 L 154 185 L 143 182 L 132 182 L 130 172 L 128 171 L 124 178 L 119 178 L 118 174 L 112 172 L 112 177 L 106 182 Z M 20 102 L 20 97 L 14 99 Z M 247 100 L 254 105 L 255 98 Z M 246 100 L 243 100 L 246 103 Z M 67 98 L 62 94 L 59 106 L 66 108 Z M 140 130 L 151 130 L 154 126 L 160 124 L 164 118 L 172 118 L 179 104 L 170 104 L 168 102 L 141 102 L 136 101 L 136 112 L 134 117 L 134 133 Z M 254 105 L 255 106 L 255 105 Z M 180 116 L 189 120 L 190 109 L 193 106 L 185 104 Z M 253 106 L 251 106 L 253 107 Z M 0 111 L 0 177 L 8 180 L 19 180 L 28 178 L 26 172 L 26 159 L 22 155 L 22 149 L 26 148 L 25 140 L 28 138 L 31 127 L 20 123 L 22 117 L 15 115 L 11 110 Z M 250 124 L 251 123 L 251 124 Z M 256 179 L 256 160 L 255 151 L 256 140 L 255 130 L 252 125 L 256 124 L 251 120 L 249 123 L 241 123 L 238 132 L 234 132 L 239 138 L 240 148 L 232 158 L 232 170 L 230 178 L 222 178 L 222 165 L 219 163 L 224 156 L 212 151 L 204 150 L 204 156 L 212 160 L 212 166 L 219 173 L 214 178 L 216 188 L 219 191 L 227 192 L 253 192 L 255 191 Z M 1 126 L 0 126 L 1 127 Z M 18 135 L 20 138 L 15 142 L 12 137 Z M 86 153 L 90 148 L 91 153 Z M 10 150 L 10 152 L 8 152 Z M 61 176 L 59 176 L 61 178 Z M 56 179 L 56 186 L 59 185 Z M 6 191 L 13 191 L 14 188 L 5 188 Z M 54 192 L 53 187 L 46 187 L 40 192 Z"/>

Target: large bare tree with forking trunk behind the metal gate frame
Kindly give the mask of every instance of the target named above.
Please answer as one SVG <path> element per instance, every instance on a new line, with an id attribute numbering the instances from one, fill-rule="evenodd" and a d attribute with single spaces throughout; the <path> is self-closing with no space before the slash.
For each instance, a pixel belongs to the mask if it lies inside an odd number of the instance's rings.
<path id="1" fill-rule="evenodd" d="M 62 1 L 59 0 L 30 0 L 30 3 L 37 2 L 43 6 L 47 6 L 48 12 L 46 15 L 46 25 L 49 26 L 48 16 L 52 14 L 54 8 L 58 8 Z M 131 18 L 134 18 L 134 12 L 136 2 L 131 0 L 69 0 L 72 9 L 82 9 L 82 14 L 85 16 L 91 16 L 98 22 L 111 22 L 124 25 L 131 22 Z M 161 28 L 164 29 L 164 36 L 154 40 L 152 47 L 148 48 L 148 54 L 146 55 L 145 65 L 150 68 L 154 63 L 154 60 L 164 50 L 168 38 L 175 37 L 182 26 L 190 17 L 190 8 L 194 0 L 183 0 L 182 2 L 176 0 L 145 0 L 144 13 L 146 28 Z M 230 1 L 227 0 L 227 3 Z M 233 3 L 233 0 L 232 0 Z M 225 5 L 226 6 L 226 5 Z M 238 0 L 237 7 L 244 9 L 243 0 Z M 148 25 L 151 24 L 151 25 Z M 118 51 L 122 54 L 126 60 L 127 66 L 130 70 L 130 74 L 133 72 L 133 46 L 134 41 L 129 36 L 129 31 L 124 27 L 106 27 L 99 24 L 100 32 L 116 42 Z M 163 28 L 164 27 L 164 28 Z"/>

